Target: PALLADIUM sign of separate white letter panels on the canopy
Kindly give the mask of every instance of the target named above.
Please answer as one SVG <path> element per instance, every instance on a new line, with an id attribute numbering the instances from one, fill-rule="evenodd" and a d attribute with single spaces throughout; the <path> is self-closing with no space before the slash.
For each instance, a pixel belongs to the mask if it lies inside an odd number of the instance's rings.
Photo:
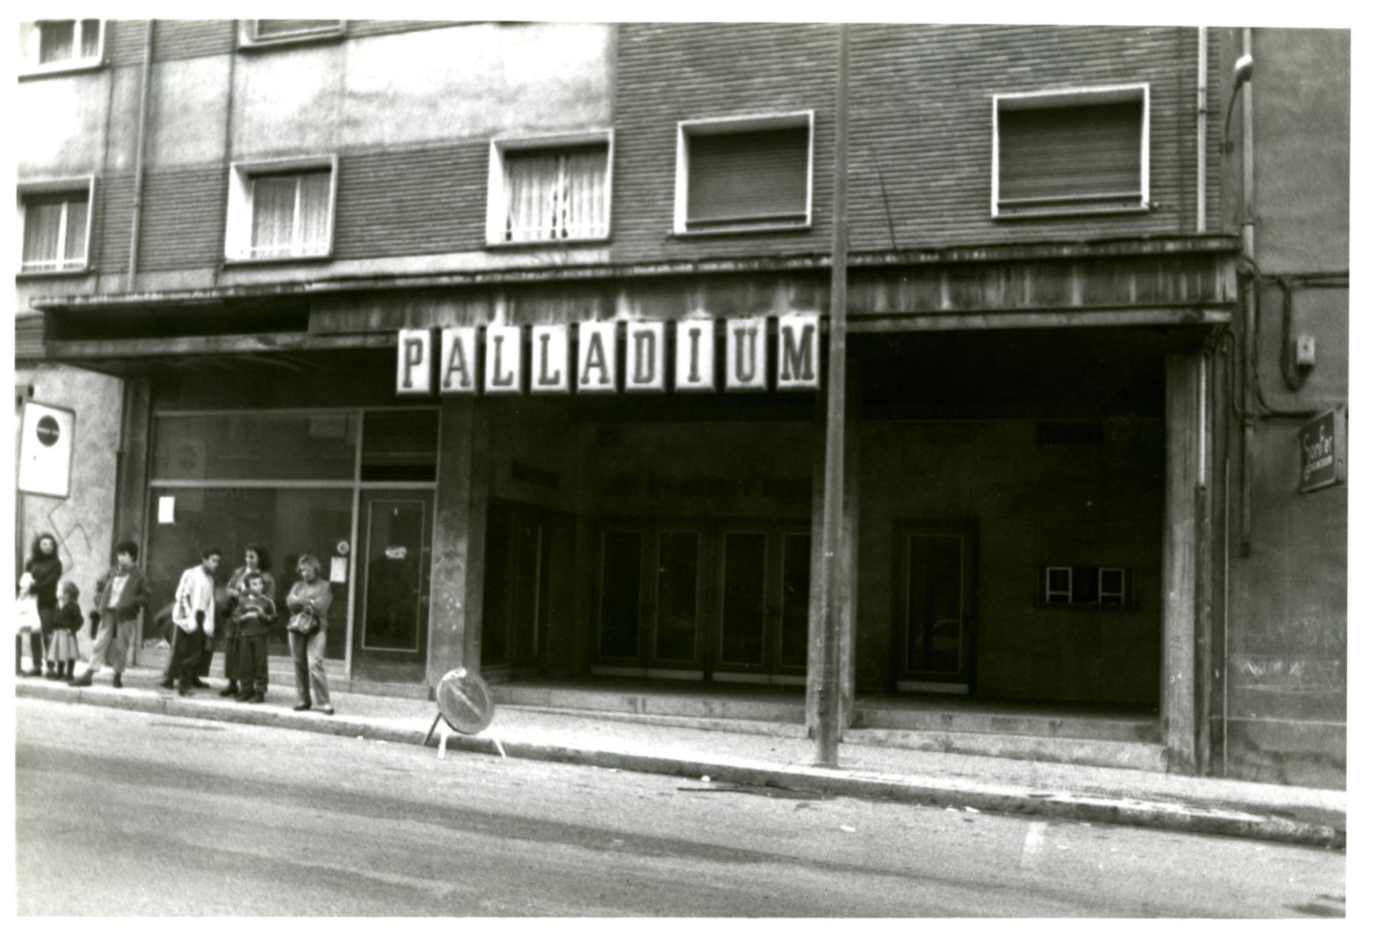
<path id="1" fill-rule="evenodd" d="M 403 330 L 396 339 L 396 394 L 514 394 L 612 392 L 715 392 L 716 327 L 708 319 L 583 322 Z M 778 316 L 773 386 L 821 385 L 821 316 Z M 527 352 L 528 346 L 528 352 Z M 437 349 L 437 353 L 436 353 Z M 769 387 L 769 319 L 726 322 L 725 385 L 730 392 Z M 670 366 L 671 364 L 671 366 Z"/>

